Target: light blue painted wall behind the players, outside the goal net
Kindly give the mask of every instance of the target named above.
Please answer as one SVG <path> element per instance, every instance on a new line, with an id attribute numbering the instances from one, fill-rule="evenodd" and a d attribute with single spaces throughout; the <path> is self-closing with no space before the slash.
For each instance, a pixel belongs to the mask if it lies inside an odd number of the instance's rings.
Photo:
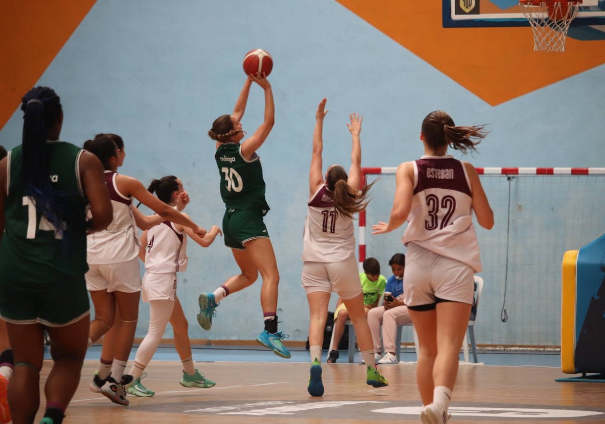
<path id="1" fill-rule="evenodd" d="M 55 88 L 62 98 L 62 139 L 81 145 L 99 132 L 120 134 L 127 153 L 120 171 L 143 184 L 177 175 L 191 195 L 188 213 L 209 227 L 220 224 L 224 206 L 207 132 L 215 118 L 231 113 L 246 78 L 241 59 L 252 48 L 266 49 L 275 62 L 269 80 L 276 124 L 258 153 L 272 208 L 266 224 L 281 274 L 280 326 L 291 340 L 305 340 L 309 325 L 300 287 L 301 236 L 315 109 L 322 97 L 330 110 L 326 165 L 349 164 L 349 113 L 364 117 L 362 165 L 376 167 L 420 156 L 420 122 L 436 109 L 449 111 L 457 124 L 489 124 L 489 138 L 468 157 L 476 166 L 603 165 L 605 101 L 598 93 L 605 66 L 492 107 L 335 1 L 149 0 L 143 6 L 99 0 L 38 84 Z M 2 128 L 0 144 L 19 144 L 21 116 L 16 111 Z M 255 130 L 262 116 L 262 91 L 252 87 L 244 130 Z M 385 218 L 388 210 L 390 205 Z M 190 336 L 253 339 L 262 330 L 260 281 L 224 300 L 205 332 L 195 323 L 198 293 L 214 290 L 238 268 L 221 239 L 206 249 L 190 243 L 188 253 L 178 295 L 190 318 Z M 387 263 L 382 265 L 390 275 Z M 147 323 L 148 305 L 142 303 L 137 337 L 144 336 Z"/>

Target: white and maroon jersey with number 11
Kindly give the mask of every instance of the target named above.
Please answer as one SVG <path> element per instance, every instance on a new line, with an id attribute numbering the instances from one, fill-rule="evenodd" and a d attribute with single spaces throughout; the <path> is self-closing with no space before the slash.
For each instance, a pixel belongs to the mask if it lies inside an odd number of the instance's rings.
<path id="1" fill-rule="evenodd" d="M 332 191 L 321 185 L 307 204 L 302 260 L 340 262 L 354 255 L 353 220 L 338 214 Z"/>

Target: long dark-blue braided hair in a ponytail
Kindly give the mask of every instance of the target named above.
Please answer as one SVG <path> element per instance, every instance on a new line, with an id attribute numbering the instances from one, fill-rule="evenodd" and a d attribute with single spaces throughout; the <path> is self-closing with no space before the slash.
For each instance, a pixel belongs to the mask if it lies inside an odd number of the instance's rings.
<path id="1" fill-rule="evenodd" d="M 70 193 L 61 193 L 51 184 L 48 161 L 47 131 L 59 121 L 61 102 L 52 88 L 34 87 L 21 99 L 23 115 L 21 179 L 25 194 L 36 204 L 38 213 L 53 224 L 57 234 L 66 239 L 65 228 L 74 220 L 68 201 Z"/>

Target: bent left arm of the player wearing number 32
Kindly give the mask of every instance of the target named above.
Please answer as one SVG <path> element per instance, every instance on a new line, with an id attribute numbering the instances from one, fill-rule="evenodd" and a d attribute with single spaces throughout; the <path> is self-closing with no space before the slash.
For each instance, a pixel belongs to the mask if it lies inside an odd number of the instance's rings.
<path id="1" fill-rule="evenodd" d="M 401 227 L 408 219 L 414 196 L 414 168 L 412 162 L 404 162 L 395 174 L 395 196 L 388 222 L 372 225 L 372 234 L 384 234 Z"/>

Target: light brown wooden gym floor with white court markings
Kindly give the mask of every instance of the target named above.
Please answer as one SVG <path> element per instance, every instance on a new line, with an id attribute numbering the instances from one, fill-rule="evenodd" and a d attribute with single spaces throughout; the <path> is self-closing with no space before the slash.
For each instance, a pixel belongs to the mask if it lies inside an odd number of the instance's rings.
<path id="1" fill-rule="evenodd" d="M 364 366 L 323 364 L 325 394 L 311 397 L 308 363 L 198 362 L 217 385 L 197 389 L 178 384 L 180 362 L 152 361 L 143 384 L 155 396 L 128 396 L 120 406 L 88 389 L 97 363 L 85 362 L 65 424 L 420 422 L 413 364 L 381 366 L 390 384 L 376 389 L 365 384 Z M 50 366 L 45 360 L 42 385 Z M 603 424 L 605 383 L 555 382 L 562 376 L 554 367 L 460 366 L 450 423 Z"/>

